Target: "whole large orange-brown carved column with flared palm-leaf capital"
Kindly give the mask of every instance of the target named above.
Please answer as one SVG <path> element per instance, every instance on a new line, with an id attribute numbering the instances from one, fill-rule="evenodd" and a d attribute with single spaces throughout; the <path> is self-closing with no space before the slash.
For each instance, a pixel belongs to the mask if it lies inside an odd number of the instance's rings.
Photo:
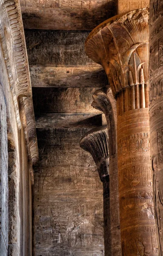
<path id="1" fill-rule="evenodd" d="M 97 26 L 86 53 L 102 64 L 117 101 L 120 232 L 123 256 L 158 255 L 148 114 L 149 11 Z"/>

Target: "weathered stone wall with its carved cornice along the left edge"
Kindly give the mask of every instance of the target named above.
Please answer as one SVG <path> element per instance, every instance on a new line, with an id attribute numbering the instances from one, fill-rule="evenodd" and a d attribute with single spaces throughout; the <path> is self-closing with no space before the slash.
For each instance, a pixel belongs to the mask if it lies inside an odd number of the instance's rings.
<path id="1" fill-rule="evenodd" d="M 20 101 L 24 105 L 23 113 Z M 0 1 L 0 105 L 0 163 L 3 161 L 3 166 L 0 164 L 0 198 L 3 198 L 0 207 L 0 255 L 31 256 L 29 166 L 36 162 L 36 158 L 38 160 L 38 149 L 18 0 Z"/>

